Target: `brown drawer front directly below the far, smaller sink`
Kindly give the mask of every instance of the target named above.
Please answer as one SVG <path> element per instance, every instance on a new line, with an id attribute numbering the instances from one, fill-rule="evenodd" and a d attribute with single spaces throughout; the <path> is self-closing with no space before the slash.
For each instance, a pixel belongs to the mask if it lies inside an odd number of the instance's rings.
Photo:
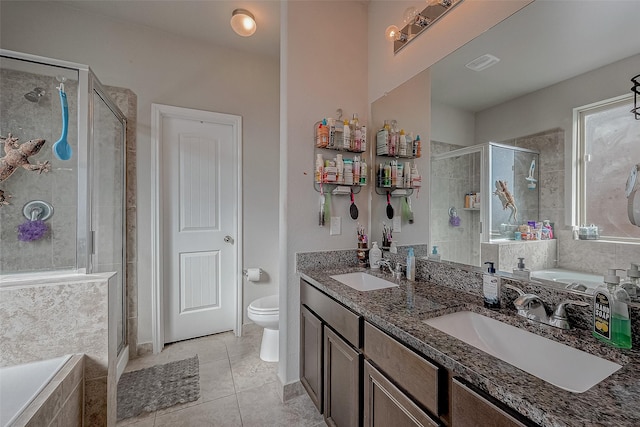
<path id="1" fill-rule="evenodd" d="M 304 280 L 300 281 L 300 301 L 352 346 L 362 348 L 360 316 L 331 299 Z"/>

